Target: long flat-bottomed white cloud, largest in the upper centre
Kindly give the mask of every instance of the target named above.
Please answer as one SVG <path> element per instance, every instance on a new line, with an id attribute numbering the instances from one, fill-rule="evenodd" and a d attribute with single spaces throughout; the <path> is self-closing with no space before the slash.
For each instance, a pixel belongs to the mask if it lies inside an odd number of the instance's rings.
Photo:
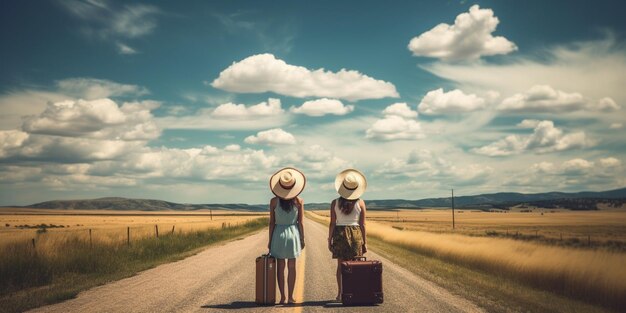
<path id="1" fill-rule="evenodd" d="M 274 92 L 292 97 L 328 97 L 350 101 L 399 97 L 396 87 L 358 71 L 309 70 L 272 54 L 250 56 L 223 70 L 211 86 L 230 92 Z"/>

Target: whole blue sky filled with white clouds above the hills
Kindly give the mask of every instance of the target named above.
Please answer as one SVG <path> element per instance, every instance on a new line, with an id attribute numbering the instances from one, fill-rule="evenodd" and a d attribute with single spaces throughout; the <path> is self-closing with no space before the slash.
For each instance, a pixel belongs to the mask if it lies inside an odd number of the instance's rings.
<path id="1" fill-rule="evenodd" d="M 619 1 L 0 4 L 0 205 L 626 185 Z"/>

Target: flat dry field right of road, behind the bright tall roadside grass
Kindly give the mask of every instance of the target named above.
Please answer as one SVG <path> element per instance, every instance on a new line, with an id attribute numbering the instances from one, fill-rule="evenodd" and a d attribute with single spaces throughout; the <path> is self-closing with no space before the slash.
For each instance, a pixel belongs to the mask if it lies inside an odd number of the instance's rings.
<path id="1" fill-rule="evenodd" d="M 328 216 L 328 211 L 315 211 Z M 368 220 L 400 230 L 495 236 L 565 246 L 626 250 L 626 210 L 569 211 L 534 209 L 507 213 L 457 210 L 370 210 Z"/>

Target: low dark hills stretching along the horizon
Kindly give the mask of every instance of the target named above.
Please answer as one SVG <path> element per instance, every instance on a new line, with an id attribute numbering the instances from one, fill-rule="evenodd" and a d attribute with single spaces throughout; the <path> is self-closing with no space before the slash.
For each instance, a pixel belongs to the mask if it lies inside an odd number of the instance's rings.
<path id="1" fill-rule="evenodd" d="M 620 204 L 626 202 L 626 188 L 591 192 L 583 191 L 576 193 L 547 192 L 547 193 L 514 193 L 500 192 L 492 194 L 481 194 L 475 196 L 454 197 L 454 204 L 458 208 L 507 208 L 519 204 L 535 205 L 547 208 L 571 208 L 577 210 L 595 209 L 597 203 Z M 329 203 L 308 203 L 307 209 L 327 209 Z M 451 199 L 428 198 L 421 200 L 368 200 L 369 209 L 420 209 L 450 207 Z M 213 210 L 239 210 L 239 211 L 267 211 L 264 204 L 181 204 L 162 200 L 150 199 L 129 199 L 129 198 L 99 198 L 87 200 L 54 200 L 36 203 L 24 207 L 41 209 L 64 209 L 64 210 L 177 210 L 193 211 L 201 209 Z"/>

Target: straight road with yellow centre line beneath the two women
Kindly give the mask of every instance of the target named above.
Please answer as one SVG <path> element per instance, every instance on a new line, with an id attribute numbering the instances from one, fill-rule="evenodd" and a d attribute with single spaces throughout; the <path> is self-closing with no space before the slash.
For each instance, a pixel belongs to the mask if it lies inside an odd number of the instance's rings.
<path id="1" fill-rule="evenodd" d="M 267 250 L 267 231 L 263 231 L 33 312 L 482 311 L 372 251 L 366 255 L 368 259 L 383 262 L 385 303 L 360 307 L 333 303 L 337 293 L 336 260 L 327 249 L 327 231 L 323 225 L 305 221 L 306 248 L 297 261 L 296 305 L 259 307 L 254 303 L 255 259 Z"/>

